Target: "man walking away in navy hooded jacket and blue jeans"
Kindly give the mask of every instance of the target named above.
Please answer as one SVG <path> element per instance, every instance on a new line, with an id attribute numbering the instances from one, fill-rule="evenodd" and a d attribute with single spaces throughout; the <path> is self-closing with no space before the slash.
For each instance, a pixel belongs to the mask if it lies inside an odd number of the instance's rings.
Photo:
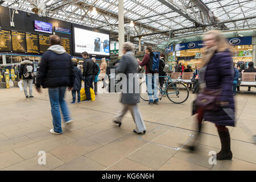
<path id="1" fill-rule="evenodd" d="M 51 103 L 53 129 L 52 134 L 62 134 L 60 109 L 65 124 L 70 127 L 72 119 L 64 100 L 65 91 L 72 90 L 74 75 L 71 56 L 60 46 L 61 39 L 57 35 L 49 38 L 50 47 L 44 52 L 36 75 L 36 90 L 41 93 L 40 86 L 48 88 Z M 59 109 L 60 106 L 60 109 Z"/>

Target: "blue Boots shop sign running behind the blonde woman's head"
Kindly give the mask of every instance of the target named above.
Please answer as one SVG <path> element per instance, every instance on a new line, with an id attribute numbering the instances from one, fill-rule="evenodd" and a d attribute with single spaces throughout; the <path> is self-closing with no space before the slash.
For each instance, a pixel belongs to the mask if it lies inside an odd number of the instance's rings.
<path id="1" fill-rule="evenodd" d="M 242 38 L 228 38 L 228 42 L 231 46 L 251 45 L 251 36 L 244 36 Z M 203 41 L 176 44 L 175 51 L 203 48 L 203 46 Z"/>

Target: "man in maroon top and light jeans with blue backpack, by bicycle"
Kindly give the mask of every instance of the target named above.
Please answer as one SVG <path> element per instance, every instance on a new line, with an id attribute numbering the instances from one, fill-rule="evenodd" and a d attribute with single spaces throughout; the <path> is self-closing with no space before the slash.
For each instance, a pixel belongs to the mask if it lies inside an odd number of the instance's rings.
<path id="1" fill-rule="evenodd" d="M 154 53 L 152 52 L 152 47 L 147 46 L 145 49 L 146 55 L 144 55 L 143 60 L 139 61 L 138 64 L 143 67 L 145 66 L 146 73 L 146 84 L 147 84 L 147 94 L 148 94 L 148 104 L 159 104 L 158 99 L 158 69 L 159 69 L 159 57 L 158 57 L 158 65 L 157 63 L 152 63 L 152 56 Z M 155 70 L 152 70 L 152 64 L 157 65 Z"/>

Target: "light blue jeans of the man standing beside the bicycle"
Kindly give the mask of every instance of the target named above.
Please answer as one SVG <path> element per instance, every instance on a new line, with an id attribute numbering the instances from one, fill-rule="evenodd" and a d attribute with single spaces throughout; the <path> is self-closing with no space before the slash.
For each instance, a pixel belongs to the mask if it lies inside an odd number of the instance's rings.
<path id="1" fill-rule="evenodd" d="M 158 77 L 154 74 L 146 74 L 146 85 L 148 100 L 150 102 L 158 100 Z"/>

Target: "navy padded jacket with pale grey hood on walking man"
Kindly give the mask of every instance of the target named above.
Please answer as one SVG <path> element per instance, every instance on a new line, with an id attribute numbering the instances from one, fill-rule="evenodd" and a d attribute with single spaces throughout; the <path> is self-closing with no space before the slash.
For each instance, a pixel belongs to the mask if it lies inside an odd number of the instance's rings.
<path id="1" fill-rule="evenodd" d="M 36 75 L 36 87 L 56 88 L 59 86 L 73 87 L 73 64 L 71 56 L 64 47 L 54 45 L 44 52 Z"/>

